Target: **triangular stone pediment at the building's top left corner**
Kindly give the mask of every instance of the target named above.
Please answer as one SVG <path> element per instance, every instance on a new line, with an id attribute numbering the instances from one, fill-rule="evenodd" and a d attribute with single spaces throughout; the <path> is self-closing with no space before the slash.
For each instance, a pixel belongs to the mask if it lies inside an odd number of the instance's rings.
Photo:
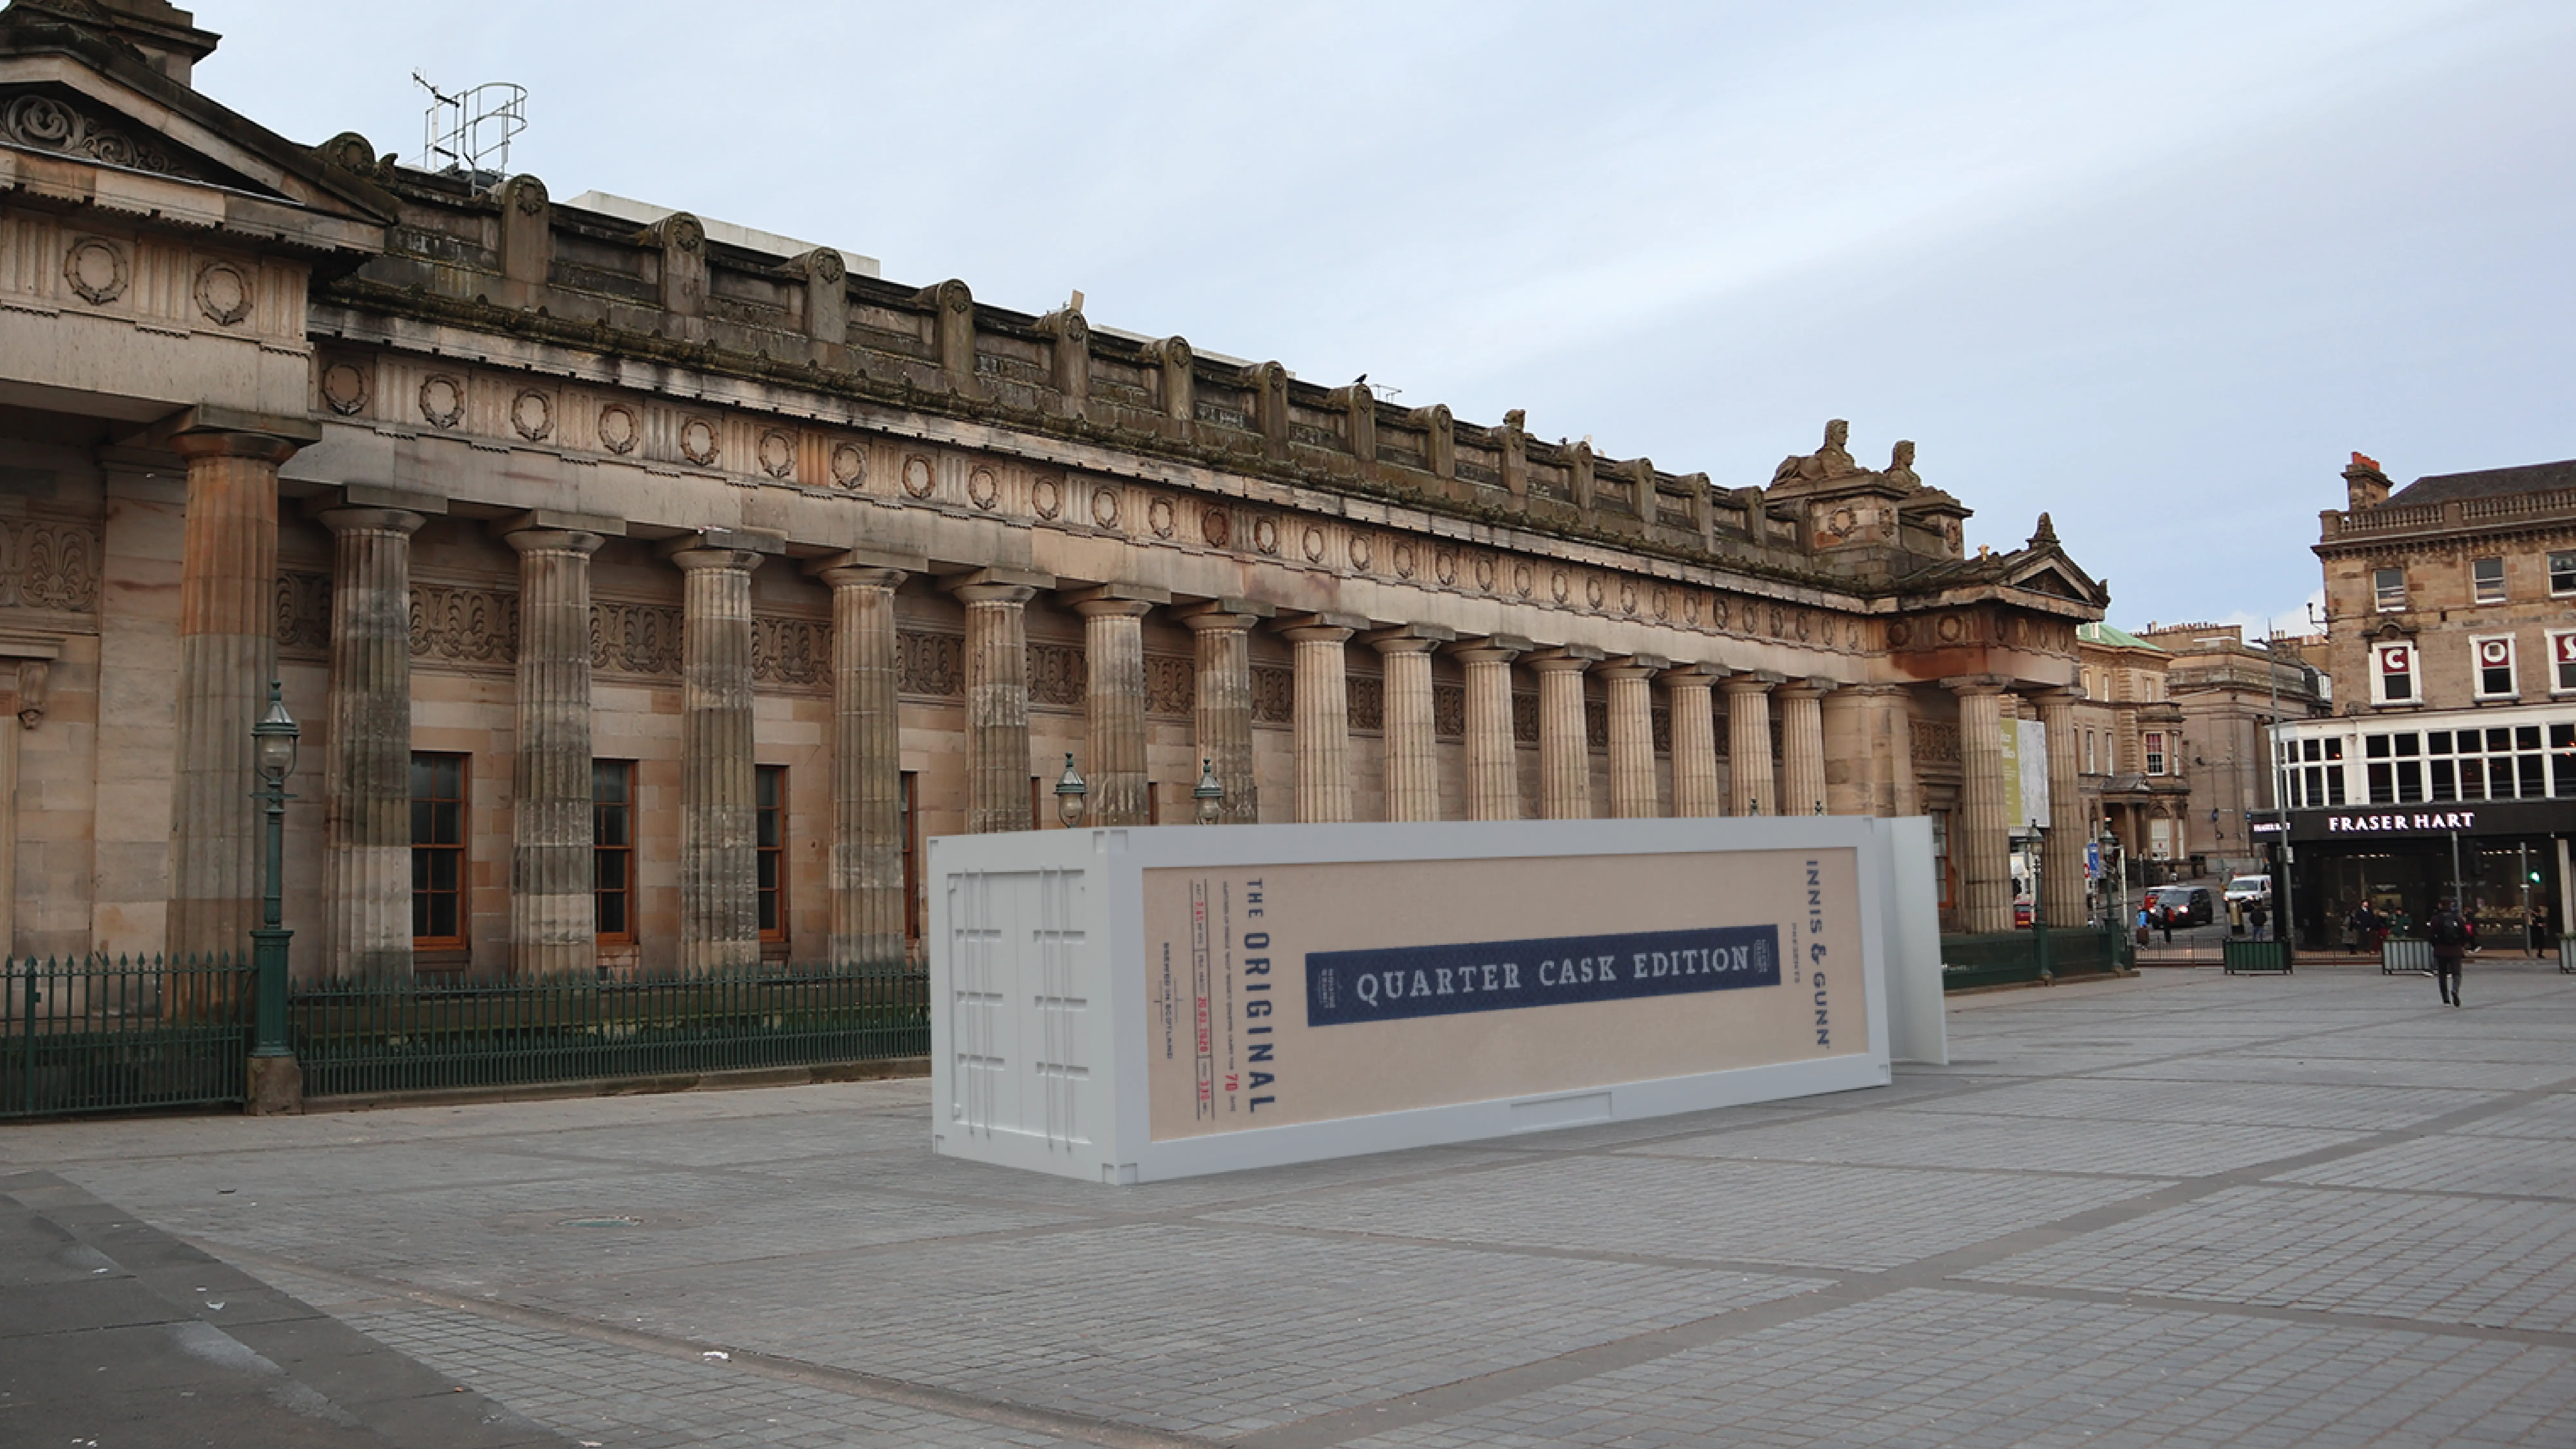
<path id="1" fill-rule="evenodd" d="M 70 10 L 0 10 L 0 160 L 15 152 L 18 188 L 62 190 L 44 162 L 211 185 L 340 221 L 314 237 L 335 250 L 345 245 L 345 224 L 381 229 L 394 219 L 389 193 L 170 80 Z"/>

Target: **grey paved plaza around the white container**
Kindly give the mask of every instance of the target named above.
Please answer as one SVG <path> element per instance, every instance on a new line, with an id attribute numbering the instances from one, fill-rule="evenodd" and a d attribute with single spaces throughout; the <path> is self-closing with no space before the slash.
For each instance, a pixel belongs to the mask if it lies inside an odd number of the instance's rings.
<path id="1" fill-rule="evenodd" d="M 1880 1091 L 1133 1189 L 933 1158 L 889 1081 L 10 1127 L 0 1194 L 204 1248 L 489 1444 L 2566 1449 L 2576 975 L 2468 1001 L 1976 996 Z"/>

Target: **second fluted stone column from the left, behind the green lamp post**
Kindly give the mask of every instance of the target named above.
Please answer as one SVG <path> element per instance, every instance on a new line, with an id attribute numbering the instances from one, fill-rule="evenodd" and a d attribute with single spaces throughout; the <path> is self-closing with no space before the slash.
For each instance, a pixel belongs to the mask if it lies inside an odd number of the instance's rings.
<path id="1" fill-rule="evenodd" d="M 412 973 L 412 533 L 399 507 L 335 507 L 322 759 L 322 960 Z"/>

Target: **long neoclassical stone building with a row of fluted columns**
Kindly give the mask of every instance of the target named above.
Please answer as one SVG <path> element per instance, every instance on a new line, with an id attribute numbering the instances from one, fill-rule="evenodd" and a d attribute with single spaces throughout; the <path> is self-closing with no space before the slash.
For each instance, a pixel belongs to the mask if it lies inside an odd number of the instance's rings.
<path id="1" fill-rule="evenodd" d="M 1829 427 L 1716 486 L 688 214 L 291 144 L 160 0 L 0 13 L 21 952 L 237 950 L 281 679 L 299 973 L 886 960 L 930 834 L 1917 813 L 2009 924 L 2048 530 Z M 492 178 L 482 178 L 492 180 Z"/>

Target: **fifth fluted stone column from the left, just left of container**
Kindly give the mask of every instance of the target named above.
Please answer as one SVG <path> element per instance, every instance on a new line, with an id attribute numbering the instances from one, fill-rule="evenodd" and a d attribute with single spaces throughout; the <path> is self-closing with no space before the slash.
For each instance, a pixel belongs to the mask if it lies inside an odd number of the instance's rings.
<path id="1" fill-rule="evenodd" d="M 904 757 L 894 705 L 894 589 L 855 561 L 832 587 L 832 965 L 904 960 Z"/>

